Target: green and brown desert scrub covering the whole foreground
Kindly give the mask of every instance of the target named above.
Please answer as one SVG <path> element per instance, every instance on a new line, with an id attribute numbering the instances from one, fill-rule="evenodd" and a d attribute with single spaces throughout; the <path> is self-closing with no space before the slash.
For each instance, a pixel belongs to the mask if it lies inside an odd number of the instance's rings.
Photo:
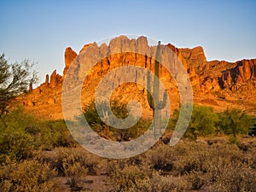
<path id="1" fill-rule="evenodd" d="M 124 106 L 113 106 L 125 117 Z M 63 120 L 38 120 L 15 107 L 4 114 L 5 125 L 0 123 L 0 190 L 255 191 L 256 141 L 247 137 L 249 115 L 195 106 L 185 137 L 170 147 L 177 115 L 147 152 L 109 160 L 81 148 Z M 114 141 L 138 137 L 152 123 L 141 119 L 122 133 L 104 125 L 93 105 L 84 116 L 102 137 Z"/>

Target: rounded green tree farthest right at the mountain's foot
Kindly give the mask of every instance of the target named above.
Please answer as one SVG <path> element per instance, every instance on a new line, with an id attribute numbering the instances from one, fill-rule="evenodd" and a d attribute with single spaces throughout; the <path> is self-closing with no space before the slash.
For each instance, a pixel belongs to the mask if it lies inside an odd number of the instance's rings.
<path id="1" fill-rule="evenodd" d="M 252 124 L 252 118 L 240 109 L 227 108 L 220 116 L 220 127 L 225 134 L 247 134 L 249 126 Z"/>

